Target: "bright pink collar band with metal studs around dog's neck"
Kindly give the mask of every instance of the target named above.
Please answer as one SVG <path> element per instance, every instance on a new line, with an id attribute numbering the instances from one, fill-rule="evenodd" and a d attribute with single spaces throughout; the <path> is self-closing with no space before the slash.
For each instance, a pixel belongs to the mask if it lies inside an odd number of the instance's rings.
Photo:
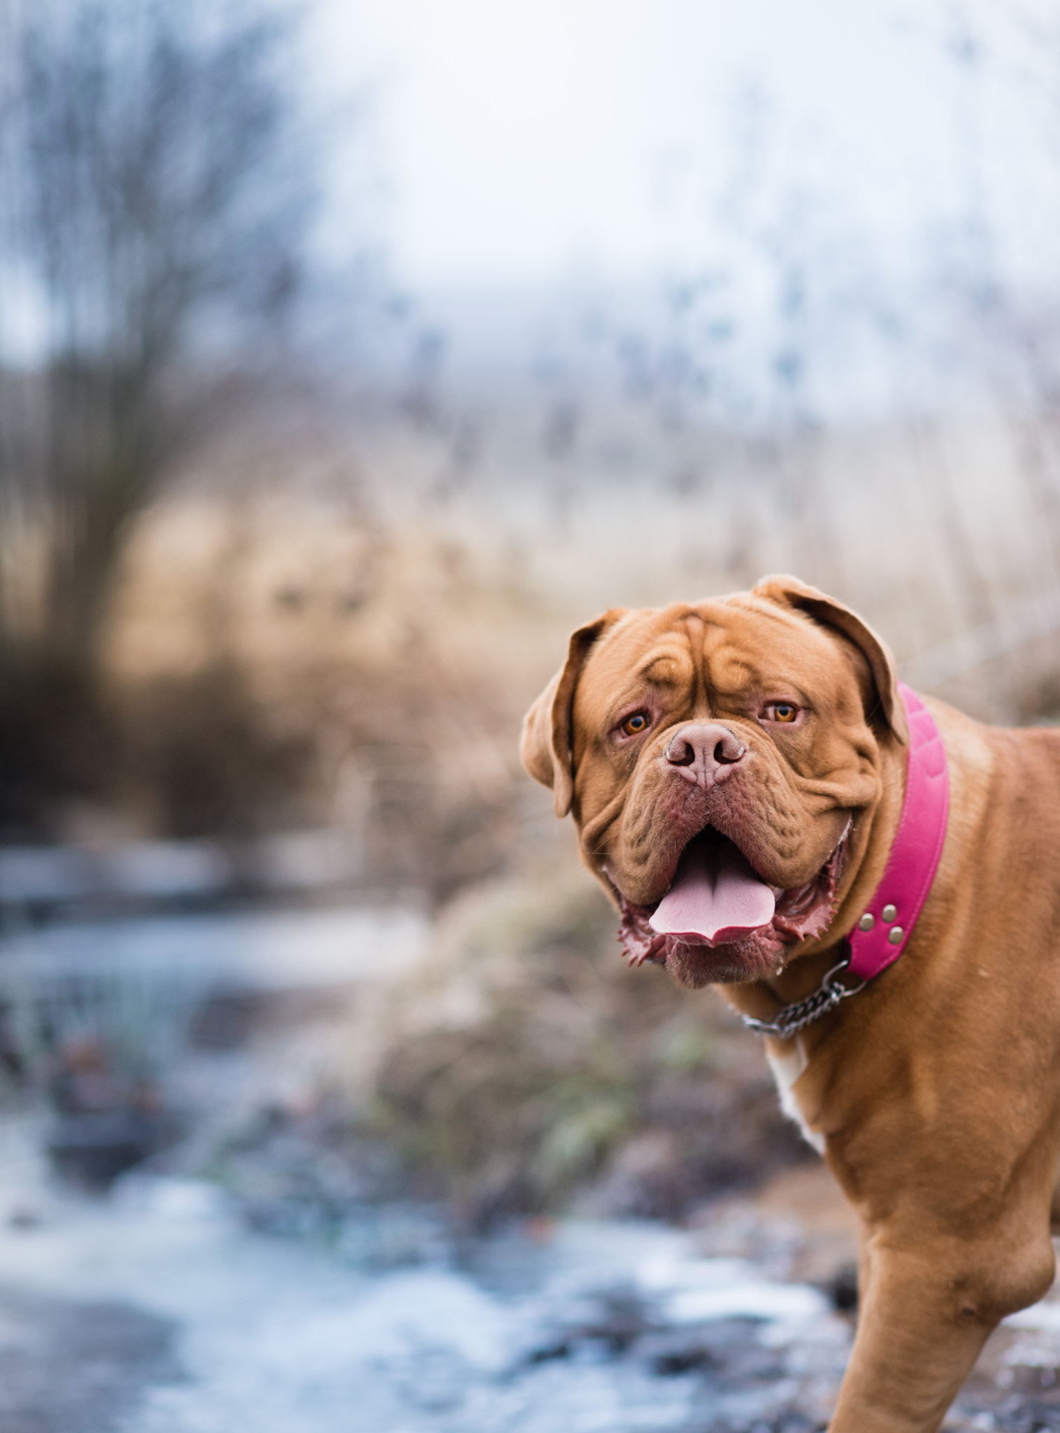
<path id="1" fill-rule="evenodd" d="M 920 696 L 898 682 L 910 719 L 905 800 L 884 878 L 851 931 L 848 972 L 871 980 L 901 956 L 938 870 L 950 810 L 950 775 L 938 727 Z"/>

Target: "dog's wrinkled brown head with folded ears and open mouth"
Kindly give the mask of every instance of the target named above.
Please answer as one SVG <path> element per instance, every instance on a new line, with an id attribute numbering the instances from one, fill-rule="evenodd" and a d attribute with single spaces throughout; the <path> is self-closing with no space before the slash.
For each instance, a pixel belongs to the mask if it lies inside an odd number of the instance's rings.
<path id="1" fill-rule="evenodd" d="M 768 577 L 579 628 L 527 712 L 523 762 L 573 811 L 630 957 L 700 986 L 775 973 L 825 933 L 881 752 L 907 741 L 880 638 Z"/>

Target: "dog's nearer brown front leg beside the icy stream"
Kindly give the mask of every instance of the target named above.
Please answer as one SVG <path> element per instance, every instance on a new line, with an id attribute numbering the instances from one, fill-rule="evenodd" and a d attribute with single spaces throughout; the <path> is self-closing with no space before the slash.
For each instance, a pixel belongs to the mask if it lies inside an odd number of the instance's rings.
<path id="1" fill-rule="evenodd" d="M 1047 1238 L 1016 1248 L 997 1237 L 867 1238 L 858 1334 L 829 1433 L 935 1433 L 990 1333 L 1040 1298 L 1053 1270 Z"/>

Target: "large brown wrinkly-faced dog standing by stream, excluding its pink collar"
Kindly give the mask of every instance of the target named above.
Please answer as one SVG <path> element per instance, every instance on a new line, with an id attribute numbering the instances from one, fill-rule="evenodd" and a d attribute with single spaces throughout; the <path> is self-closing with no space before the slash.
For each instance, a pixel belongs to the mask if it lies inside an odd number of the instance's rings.
<path id="1" fill-rule="evenodd" d="M 950 813 L 908 946 L 768 1042 L 785 1108 L 862 1224 L 832 1433 L 937 1429 L 998 1320 L 1054 1273 L 1060 732 L 928 708 Z M 880 884 L 907 742 L 884 643 L 772 577 L 579 628 L 523 761 L 573 813 L 627 952 L 769 1019 L 821 986 Z"/>

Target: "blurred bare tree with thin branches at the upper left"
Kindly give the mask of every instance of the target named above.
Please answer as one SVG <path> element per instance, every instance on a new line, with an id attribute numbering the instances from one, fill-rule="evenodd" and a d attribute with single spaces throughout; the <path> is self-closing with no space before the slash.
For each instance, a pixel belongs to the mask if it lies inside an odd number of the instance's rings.
<path id="1" fill-rule="evenodd" d="M 17 6 L 17 0 L 16 0 Z M 311 193 L 278 11 L 7 10 L 0 684 L 92 669 L 127 519 L 275 324 Z M 275 331 L 275 330 L 274 330 Z M 21 350 L 21 351 L 20 351 Z"/>

